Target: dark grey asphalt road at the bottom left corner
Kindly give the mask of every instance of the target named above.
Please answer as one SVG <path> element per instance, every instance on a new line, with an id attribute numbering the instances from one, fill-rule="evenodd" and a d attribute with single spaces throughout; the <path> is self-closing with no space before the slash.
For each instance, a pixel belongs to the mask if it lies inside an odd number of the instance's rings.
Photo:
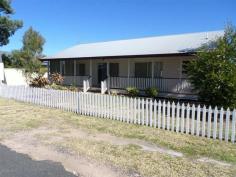
<path id="1" fill-rule="evenodd" d="M 51 161 L 34 161 L 0 145 L 0 177 L 76 177 Z"/>

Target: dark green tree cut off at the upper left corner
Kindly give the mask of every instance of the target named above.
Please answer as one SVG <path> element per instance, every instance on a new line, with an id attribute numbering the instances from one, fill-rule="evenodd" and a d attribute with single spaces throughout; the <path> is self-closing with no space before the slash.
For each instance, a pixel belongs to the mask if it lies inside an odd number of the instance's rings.
<path id="1" fill-rule="evenodd" d="M 10 1 L 0 0 L 0 46 L 8 44 L 9 37 L 23 25 L 22 21 L 10 19 L 9 15 L 13 13 Z"/>

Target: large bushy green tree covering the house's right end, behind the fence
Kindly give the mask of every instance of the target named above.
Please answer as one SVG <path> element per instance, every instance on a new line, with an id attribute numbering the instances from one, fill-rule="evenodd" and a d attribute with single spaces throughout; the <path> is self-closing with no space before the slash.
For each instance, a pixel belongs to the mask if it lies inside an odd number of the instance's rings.
<path id="1" fill-rule="evenodd" d="M 236 107 L 236 29 L 202 46 L 187 73 L 199 99 L 211 105 Z"/>

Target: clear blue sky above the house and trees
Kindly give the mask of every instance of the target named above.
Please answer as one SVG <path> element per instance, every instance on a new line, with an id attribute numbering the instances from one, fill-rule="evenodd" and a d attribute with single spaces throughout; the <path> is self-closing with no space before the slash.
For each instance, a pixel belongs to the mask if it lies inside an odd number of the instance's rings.
<path id="1" fill-rule="evenodd" d="M 32 26 L 46 39 L 44 54 L 75 44 L 212 31 L 236 25 L 235 0 L 12 0 L 24 27 L 0 50 L 22 46 Z"/>

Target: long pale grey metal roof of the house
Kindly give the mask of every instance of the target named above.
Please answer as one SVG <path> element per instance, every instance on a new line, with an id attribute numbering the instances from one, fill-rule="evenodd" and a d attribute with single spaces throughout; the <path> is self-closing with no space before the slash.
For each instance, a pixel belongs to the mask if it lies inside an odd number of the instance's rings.
<path id="1" fill-rule="evenodd" d="M 224 31 L 221 30 L 80 44 L 44 59 L 182 54 L 192 52 L 223 34 Z"/>

